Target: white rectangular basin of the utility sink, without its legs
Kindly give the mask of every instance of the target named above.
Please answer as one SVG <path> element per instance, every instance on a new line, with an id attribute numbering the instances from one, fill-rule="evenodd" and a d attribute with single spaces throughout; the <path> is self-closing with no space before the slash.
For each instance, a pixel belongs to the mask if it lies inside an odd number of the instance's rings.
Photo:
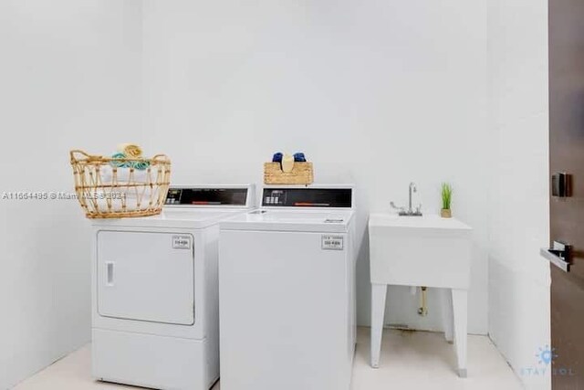
<path id="1" fill-rule="evenodd" d="M 468 289 L 471 232 L 456 218 L 371 214 L 371 283 Z"/>

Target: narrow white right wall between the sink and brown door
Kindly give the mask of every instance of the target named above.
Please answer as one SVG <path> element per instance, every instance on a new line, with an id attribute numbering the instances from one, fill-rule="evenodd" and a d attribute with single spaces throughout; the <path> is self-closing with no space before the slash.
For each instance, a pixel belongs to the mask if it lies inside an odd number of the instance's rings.
<path id="1" fill-rule="evenodd" d="M 527 388 L 547 389 L 527 374 L 550 343 L 547 0 L 488 2 L 488 60 L 489 333 Z"/>

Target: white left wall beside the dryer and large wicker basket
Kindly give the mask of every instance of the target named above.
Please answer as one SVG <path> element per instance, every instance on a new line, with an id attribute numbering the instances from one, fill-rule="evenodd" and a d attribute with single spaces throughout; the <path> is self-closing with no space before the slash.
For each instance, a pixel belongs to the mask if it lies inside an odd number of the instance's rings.
<path id="1" fill-rule="evenodd" d="M 138 2 L 0 2 L 0 193 L 71 191 L 68 150 L 140 132 Z M 0 194 L 2 195 L 2 194 Z M 90 338 L 89 230 L 75 201 L 0 198 L 0 389 Z"/>

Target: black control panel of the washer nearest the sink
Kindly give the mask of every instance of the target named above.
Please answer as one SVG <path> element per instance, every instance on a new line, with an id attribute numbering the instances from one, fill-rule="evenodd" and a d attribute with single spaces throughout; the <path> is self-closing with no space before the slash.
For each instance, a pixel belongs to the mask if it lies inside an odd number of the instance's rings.
<path id="1" fill-rule="evenodd" d="M 264 188 L 264 207 L 351 208 L 352 188 Z"/>

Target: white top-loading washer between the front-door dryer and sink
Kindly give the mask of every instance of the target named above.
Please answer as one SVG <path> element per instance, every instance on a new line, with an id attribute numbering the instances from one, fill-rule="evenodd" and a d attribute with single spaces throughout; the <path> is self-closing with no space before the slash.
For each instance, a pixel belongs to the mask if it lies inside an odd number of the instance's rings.
<path id="1" fill-rule="evenodd" d="M 275 186 L 220 223 L 222 390 L 349 390 L 353 215 L 351 186 Z"/>

